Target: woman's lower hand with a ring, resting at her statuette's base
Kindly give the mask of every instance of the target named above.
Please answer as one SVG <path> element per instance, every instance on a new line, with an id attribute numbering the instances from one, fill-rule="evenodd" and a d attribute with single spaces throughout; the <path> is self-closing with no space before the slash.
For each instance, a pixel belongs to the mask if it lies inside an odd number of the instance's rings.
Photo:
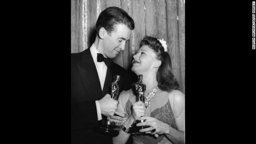
<path id="1" fill-rule="evenodd" d="M 169 124 L 150 116 L 143 116 L 138 118 L 138 120 L 146 120 L 146 122 L 140 122 L 136 124 L 136 126 L 151 126 L 149 128 L 140 129 L 140 132 L 150 132 L 150 134 L 154 134 L 156 137 L 158 137 L 158 134 L 167 134 L 170 127 Z"/>

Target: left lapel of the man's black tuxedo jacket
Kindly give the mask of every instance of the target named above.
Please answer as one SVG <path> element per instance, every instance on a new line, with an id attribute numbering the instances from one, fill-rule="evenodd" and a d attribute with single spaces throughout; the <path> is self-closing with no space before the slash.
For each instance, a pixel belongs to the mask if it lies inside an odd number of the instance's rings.
<path id="1" fill-rule="evenodd" d="M 102 90 L 90 48 L 82 53 L 82 67 L 78 66 L 78 70 L 90 100 L 100 100 Z"/>

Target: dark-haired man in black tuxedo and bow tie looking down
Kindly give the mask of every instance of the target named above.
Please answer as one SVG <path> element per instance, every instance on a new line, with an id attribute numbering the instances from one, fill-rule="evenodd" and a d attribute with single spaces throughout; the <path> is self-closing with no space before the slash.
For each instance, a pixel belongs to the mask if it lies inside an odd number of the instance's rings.
<path id="1" fill-rule="evenodd" d="M 96 39 L 83 52 L 71 54 L 71 143 L 112 144 L 112 136 L 97 132 L 99 120 L 114 116 L 122 125 L 124 112 L 116 111 L 118 100 L 110 98 L 110 84 L 120 76 L 119 94 L 131 88 L 131 77 L 112 62 L 134 29 L 133 19 L 121 8 L 109 7 L 96 22 Z"/>

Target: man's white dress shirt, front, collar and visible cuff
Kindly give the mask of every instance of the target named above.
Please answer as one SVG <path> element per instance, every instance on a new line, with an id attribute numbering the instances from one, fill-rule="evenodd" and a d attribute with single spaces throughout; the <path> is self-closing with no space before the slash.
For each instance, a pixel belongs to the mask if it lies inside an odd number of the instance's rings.
<path id="1" fill-rule="evenodd" d="M 95 48 L 94 44 L 92 44 L 92 46 L 90 47 L 90 51 L 91 51 L 92 59 L 94 61 L 94 64 L 96 66 L 96 70 L 98 72 L 98 76 L 100 79 L 101 90 L 103 90 L 108 67 L 106 66 L 105 62 L 97 62 L 97 53 L 99 53 L 99 52 Z M 100 104 L 99 104 L 98 100 L 96 100 L 95 103 L 96 103 L 96 108 L 97 108 L 98 120 L 102 120 Z"/>

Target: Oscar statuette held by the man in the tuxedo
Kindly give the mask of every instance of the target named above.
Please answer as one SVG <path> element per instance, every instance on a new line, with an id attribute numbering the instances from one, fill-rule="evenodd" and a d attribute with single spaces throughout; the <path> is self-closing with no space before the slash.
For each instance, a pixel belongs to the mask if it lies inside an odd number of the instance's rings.
<path id="1" fill-rule="evenodd" d="M 116 97 L 119 93 L 119 87 L 117 82 L 119 81 L 120 76 L 116 75 L 114 76 L 114 81 L 110 84 L 111 87 L 111 98 L 116 100 Z M 99 128 L 96 129 L 100 132 L 105 132 L 108 134 L 118 135 L 119 134 L 119 128 L 117 126 L 116 122 L 111 122 L 109 120 L 110 117 L 108 117 L 107 120 L 100 120 Z"/>

